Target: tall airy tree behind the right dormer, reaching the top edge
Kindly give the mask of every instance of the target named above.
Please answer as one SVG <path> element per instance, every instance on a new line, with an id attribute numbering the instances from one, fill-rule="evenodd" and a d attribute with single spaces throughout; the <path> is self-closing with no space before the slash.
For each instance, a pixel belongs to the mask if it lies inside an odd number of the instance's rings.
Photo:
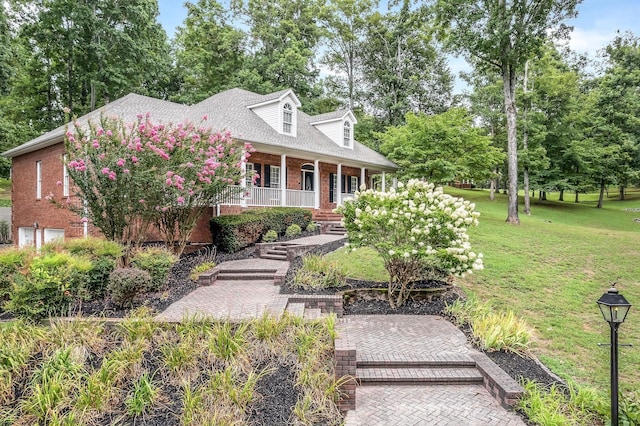
<path id="1" fill-rule="evenodd" d="M 437 114 L 450 104 L 453 77 L 432 36 L 431 9 L 409 0 L 369 19 L 363 45 L 366 107 L 384 125 L 404 123 L 409 111 Z"/>

